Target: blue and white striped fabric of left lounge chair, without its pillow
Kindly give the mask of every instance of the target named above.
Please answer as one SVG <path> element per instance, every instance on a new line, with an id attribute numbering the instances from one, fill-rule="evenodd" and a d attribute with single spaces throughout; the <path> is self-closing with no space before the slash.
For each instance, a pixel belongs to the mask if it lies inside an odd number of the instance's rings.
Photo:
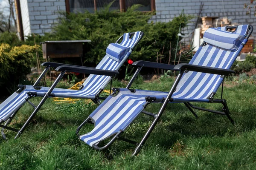
<path id="1" fill-rule="evenodd" d="M 112 71 L 119 70 L 122 64 L 130 56 L 132 52 L 131 48 L 139 40 L 140 34 L 141 31 L 137 31 L 132 38 L 129 37 L 130 33 L 125 33 L 123 35 L 123 40 L 120 45 L 127 47 L 129 51 L 125 52 L 125 57 L 123 57 L 122 61 L 117 62 L 116 60 L 111 59 L 111 57 L 108 57 L 108 54 L 106 54 L 105 57 L 103 57 L 103 59 L 96 66 L 96 68 Z M 111 77 L 109 76 L 90 74 L 90 76 L 84 81 L 83 88 L 81 90 L 77 91 L 55 88 L 52 91 L 52 94 L 54 94 L 55 97 L 94 99 L 99 90 L 104 89 L 110 81 Z M 14 113 L 26 102 L 25 98 L 27 97 L 27 92 L 37 92 L 37 96 L 44 96 L 48 90 L 49 88 L 47 87 L 41 87 L 40 90 L 36 90 L 33 86 L 26 85 L 26 88 L 20 94 L 15 92 L 0 104 L 0 120 L 5 121 L 8 119 L 12 113 Z"/>

